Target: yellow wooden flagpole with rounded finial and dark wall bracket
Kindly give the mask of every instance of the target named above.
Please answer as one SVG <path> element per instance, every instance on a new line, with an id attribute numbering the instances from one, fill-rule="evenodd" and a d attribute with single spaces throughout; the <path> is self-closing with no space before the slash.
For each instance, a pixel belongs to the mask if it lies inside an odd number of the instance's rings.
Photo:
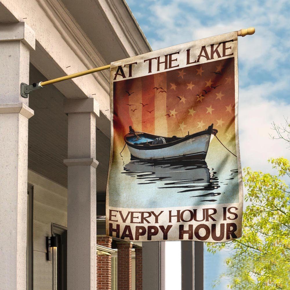
<path id="1" fill-rule="evenodd" d="M 246 36 L 246 35 L 252 35 L 255 33 L 255 28 L 254 27 L 249 27 L 247 29 L 240 29 L 238 31 L 238 36 Z M 58 77 L 56 79 L 51 79 L 51 80 L 48 80 L 48 81 L 41 81 L 39 83 L 34 83 L 32 85 L 28 85 L 28 84 L 25 84 L 25 83 L 21 83 L 21 96 L 23 98 L 28 98 L 28 94 L 34 90 L 37 90 L 39 88 L 43 88 L 44 86 L 48 86 L 50 84 L 55 84 L 55 83 L 58 83 L 60 81 L 66 81 L 68 79 L 73 79 L 75 77 L 81 77 L 83 75 L 88 75 L 88 74 L 91 74 L 91 73 L 96 73 L 96 72 L 99 72 L 101 70 L 108 70 L 110 68 L 110 64 L 106 65 L 106 66 L 100 66 L 98 68 L 92 68 L 90 70 L 84 70 L 82 72 L 79 72 L 79 73 L 73 73 L 71 75 L 66 75 L 64 77 Z"/>

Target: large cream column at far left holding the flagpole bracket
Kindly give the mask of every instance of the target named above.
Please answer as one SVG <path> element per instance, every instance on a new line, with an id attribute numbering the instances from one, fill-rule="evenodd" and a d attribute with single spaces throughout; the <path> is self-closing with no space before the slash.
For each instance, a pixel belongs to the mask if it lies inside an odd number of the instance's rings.
<path id="1" fill-rule="evenodd" d="M 26 289 L 29 82 L 35 34 L 24 22 L 0 24 L 0 288 Z"/>

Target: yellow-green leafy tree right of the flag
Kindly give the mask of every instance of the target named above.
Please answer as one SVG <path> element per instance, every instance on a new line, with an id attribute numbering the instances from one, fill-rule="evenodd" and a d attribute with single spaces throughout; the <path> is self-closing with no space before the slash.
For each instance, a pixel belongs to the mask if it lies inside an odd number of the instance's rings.
<path id="1" fill-rule="evenodd" d="M 280 177 L 290 178 L 287 159 L 270 159 L 278 175 L 244 169 L 247 189 L 242 237 L 207 243 L 208 251 L 230 250 L 220 278 L 230 289 L 290 289 L 290 192 Z M 219 283 L 216 281 L 214 287 Z"/>

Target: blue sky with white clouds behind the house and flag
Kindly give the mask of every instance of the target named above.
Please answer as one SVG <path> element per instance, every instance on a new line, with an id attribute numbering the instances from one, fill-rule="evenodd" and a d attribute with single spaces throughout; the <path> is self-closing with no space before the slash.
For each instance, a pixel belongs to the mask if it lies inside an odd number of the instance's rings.
<path id="1" fill-rule="evenodd" d="M 153 50 L 255 27 L 254 35 L 238 39 L 241 165 L 275 173 L 268 158 L 290 159 L 286 144 L 269 136 L 275 134 L 271 122 L 284 123 L 284 117 L 290 117 L 289 1 L 127 0 L 127 3 Z M 180 244 L 167 243 L 166 256 L 171 260 L 166 264 L 178 265 Z M 225 267 L 226 255 L 205 251 L 205 290 L 212 289 L 213 280 Z M 179 290 L 180 268 L 171 268 L 166 267 L 166 290 Z M 215 289 L 226 289 L 226 281 Z"/>

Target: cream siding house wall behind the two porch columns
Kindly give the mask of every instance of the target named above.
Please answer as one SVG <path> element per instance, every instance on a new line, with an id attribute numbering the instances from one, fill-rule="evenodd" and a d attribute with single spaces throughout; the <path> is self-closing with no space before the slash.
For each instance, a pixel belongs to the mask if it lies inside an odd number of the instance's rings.
<path id="1" fill-rule="evenodd" d="M 33 186 L 33 289 L 52 290 L 52 261 L 46 260 L 51 224 L 67 226 L 67 189 L 28 170 Z"/>

